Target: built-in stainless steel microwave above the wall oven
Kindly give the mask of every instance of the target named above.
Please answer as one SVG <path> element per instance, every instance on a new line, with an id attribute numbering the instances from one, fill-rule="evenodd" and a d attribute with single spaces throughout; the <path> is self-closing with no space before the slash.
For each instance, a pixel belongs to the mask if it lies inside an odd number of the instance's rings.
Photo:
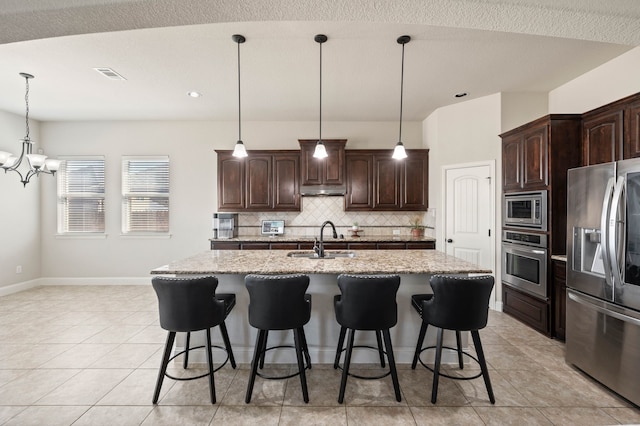
<path id="1" fill-rule="evenodd" d="M 502 225 L 547 230 L 547 191 L 511 192 L 503 196 Z"/>

